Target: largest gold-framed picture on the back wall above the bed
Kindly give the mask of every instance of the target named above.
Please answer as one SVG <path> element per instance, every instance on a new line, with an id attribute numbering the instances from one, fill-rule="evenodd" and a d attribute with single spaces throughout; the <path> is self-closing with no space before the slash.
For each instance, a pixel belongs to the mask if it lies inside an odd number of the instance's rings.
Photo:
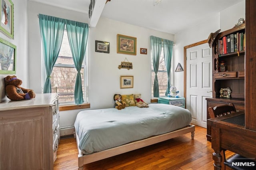
<path id="1" fill-rule="evenodd" d="M 117 53 L 136 55 L 137 38 L 117 34 Z"/>

